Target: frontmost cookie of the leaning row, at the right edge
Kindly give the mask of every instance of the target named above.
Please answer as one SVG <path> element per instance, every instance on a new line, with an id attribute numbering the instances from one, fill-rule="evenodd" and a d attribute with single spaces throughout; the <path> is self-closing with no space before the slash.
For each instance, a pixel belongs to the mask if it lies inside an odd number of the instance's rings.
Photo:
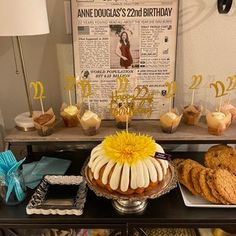
<path id="1" fill-rule="evenodd" d="M 214 183 L 218 193 L 229 203 L 236 204 L 236 176 L 224 169 L 215 171 Z"/>

